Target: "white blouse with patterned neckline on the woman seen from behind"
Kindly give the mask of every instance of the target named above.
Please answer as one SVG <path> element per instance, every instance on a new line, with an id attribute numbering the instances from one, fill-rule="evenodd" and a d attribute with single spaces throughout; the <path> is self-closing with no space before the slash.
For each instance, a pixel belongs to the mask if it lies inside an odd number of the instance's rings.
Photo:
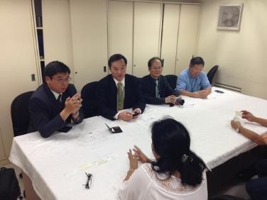
<path id="1" fill-rule="evenodd" d="M 181 179 L 167 174 L 158 174 L 150 163 L 145 163 L 133 172 L 128 181 L 119 187 L 120 200 L 207 200 L 207 179 L 203 173 L 202 183 L 197 187 L 182 185 Z"/>

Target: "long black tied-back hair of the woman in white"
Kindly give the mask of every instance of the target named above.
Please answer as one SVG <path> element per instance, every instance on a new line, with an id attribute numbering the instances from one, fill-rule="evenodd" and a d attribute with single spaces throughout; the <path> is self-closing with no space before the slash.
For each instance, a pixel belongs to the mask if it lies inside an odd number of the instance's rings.
<path id="1" fill-rule="evenodd" d="M 196 186 L 202 182 L 205 163 L 190 150 L 190 136 L 182 123 L 172 118 L 156 121 L 152 125 L 154 151 L 160 156 L 152 162 L 156 172 L 181 174 L 182 184 Z"/>

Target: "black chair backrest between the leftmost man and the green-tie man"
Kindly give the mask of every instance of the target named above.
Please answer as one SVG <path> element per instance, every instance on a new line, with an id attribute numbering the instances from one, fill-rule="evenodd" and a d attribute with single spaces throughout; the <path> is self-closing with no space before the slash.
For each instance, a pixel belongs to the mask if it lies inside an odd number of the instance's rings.
<path id="1" fill-rule="evenodd" d="M 82 87 L 82 111 L 84 112 L 85 118 L 97 116 L 97 84 L 98 82 L 89 82 Z"/>

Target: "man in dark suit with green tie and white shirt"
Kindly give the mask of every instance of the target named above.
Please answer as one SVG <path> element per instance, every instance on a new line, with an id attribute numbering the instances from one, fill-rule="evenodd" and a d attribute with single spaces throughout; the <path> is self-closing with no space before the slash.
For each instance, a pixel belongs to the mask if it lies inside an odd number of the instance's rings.
<path id="1" fill-rule="evenodd" d="M 139 89 L 139 80 L 126 74 L 127 60 L 123 55 L 112 55 L 108 64 L 111 74 L 99 81 L 97 89 L 99 113 L 111 120 L 130 121 L 146 107 Z M 123 111 L 130 108 L 133 112 Z"/>

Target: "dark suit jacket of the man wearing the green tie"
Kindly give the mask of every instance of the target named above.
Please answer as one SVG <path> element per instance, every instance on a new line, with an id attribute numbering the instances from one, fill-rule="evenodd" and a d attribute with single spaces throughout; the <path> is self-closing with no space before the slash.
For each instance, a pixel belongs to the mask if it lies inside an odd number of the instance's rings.
<path id="1" fill-rule="evenodd" d="M 97 88 L 98 111 L 104 118 L 114 120 L 117 108 L 117 87 L 111 74 L 99 81 Z M 139 80 L 130 74 L 125 74 L 124 109 L 139 108 L 143 112 L 146 103 L 139 89 Z"/>

